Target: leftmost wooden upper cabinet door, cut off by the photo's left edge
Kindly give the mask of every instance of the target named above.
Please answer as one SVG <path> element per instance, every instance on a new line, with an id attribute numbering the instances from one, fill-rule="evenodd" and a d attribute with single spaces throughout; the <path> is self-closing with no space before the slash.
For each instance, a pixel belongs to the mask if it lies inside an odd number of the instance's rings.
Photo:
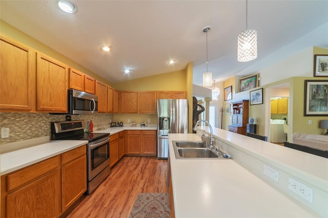
<path id="1" fill-rule="evenodd" d="M 35 52 L 0 35 L 0 109 L 35 110 Z"/>

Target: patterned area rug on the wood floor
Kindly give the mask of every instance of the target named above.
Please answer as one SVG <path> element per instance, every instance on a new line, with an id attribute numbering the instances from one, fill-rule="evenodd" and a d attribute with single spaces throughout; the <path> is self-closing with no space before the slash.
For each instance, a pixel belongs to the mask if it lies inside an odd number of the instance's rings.
<path id="1" fill-rule="evenodd" d="M 139 193 L 129 218 L 169 218 L 169 193 Z"/>

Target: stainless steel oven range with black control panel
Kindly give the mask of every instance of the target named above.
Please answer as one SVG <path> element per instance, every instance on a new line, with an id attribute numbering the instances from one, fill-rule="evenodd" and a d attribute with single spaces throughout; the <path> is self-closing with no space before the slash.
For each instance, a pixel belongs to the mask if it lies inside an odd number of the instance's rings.
<path id="1" fill-rule="evenodd" d="M 51 122 L 51 140 L 88 140 L 87 194 L 110 174 L 109 133 L 84 133 L 85 121 Z"/>

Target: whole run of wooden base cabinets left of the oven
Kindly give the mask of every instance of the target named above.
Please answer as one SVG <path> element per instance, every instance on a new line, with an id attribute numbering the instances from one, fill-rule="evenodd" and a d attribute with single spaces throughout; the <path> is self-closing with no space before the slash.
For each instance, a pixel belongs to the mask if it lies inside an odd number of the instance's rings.
<path id="1" fill-rule="evenodd" d="M 58 217 L 86 191 L 86 167 L 84 145 L 3 175 L 1 217 Z"/>

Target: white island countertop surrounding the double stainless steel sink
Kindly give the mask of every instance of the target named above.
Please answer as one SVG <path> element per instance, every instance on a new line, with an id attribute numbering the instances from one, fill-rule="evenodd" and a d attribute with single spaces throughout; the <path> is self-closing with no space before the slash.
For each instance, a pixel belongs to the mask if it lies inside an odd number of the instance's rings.
<path id="1" fill-rule="evenodd" d="M 175 217 L 321 217 L 233 159 L 175 159 L 172 140 L 201 139 L 169 134 Z"/>

